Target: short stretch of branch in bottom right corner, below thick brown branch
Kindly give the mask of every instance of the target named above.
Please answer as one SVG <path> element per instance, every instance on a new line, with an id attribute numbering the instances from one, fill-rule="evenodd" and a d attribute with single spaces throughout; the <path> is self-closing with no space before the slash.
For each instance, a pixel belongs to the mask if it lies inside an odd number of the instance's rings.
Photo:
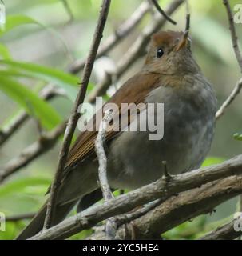
<path id="1" fill-rule="evenodd" d="M 242 234 L 242 230 L 236 231 L 234 225 L 237 220 L 234 219 L 224 226 L 218 227 L 216 230 L 212 230 L 209 234 L 199 238 L 199 240 L 233 240 L 238 238 Z"/>

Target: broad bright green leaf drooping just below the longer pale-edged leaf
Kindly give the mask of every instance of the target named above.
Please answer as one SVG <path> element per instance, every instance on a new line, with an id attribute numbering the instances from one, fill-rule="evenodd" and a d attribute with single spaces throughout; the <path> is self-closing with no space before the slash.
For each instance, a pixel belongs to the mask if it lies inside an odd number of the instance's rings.
<path id="1" fill-rule="evenodd" d="M 42 126 L 52 129 L 61 122 L 61 117 L 50 104 L 34 94 L 33 91 L 12 79 L 0 74 L 0 90 L 7 94 L 14 102 L 18 102 L 30 115 L 39 118 Z"/>

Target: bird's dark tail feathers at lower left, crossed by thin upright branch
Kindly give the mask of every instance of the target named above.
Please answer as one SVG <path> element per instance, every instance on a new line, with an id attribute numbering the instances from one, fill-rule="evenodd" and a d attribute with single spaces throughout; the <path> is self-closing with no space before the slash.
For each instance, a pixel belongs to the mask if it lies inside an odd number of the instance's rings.
<path id="1" fill-rule="evenodd" d="M 54 225 L 57 225 L 61 222 L 69 211 L 73 208 L 76 202 L 69 202 L 65 205 L 57 206 L 54 214 Z M 35 234 L 38 234 L 43 229 L 44 222 L 46 217 L 46 203 L 42 206 L 42 209 L 38 211 L 38 214 L 34 216 L 29 225 L 26 226 L 24 230 L 18 235 L 17 240 L 26 240 L 33 237 Z"/>

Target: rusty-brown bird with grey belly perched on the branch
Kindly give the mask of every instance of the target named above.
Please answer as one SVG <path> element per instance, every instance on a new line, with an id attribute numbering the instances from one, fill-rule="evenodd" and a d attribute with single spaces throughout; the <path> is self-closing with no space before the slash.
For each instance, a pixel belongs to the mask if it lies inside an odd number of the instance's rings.
<path id="1" fill-rule="evenodd" d="M 199 168 L 204 162 L 214 136 L 217 101 L 213 86 L 192 56 L 188 33 L 165 30 L 153 34 L 141 70 L 107 103 L 116 104 L 118 110 L 123 103 L 143 104 L 136 114 L 128 114 L 128 129 L 106 132 L 105 154 L 111 188 L 134 190 L 156 181 L 164 168 L 169 174 L 181 174 Z M 149 130 L 129 129 L 138 118 L 141 118 L 139 123 L 143 122 L 141 113 L 145 113 L 149 103 L 164 104 L 162 114 L 156 108 L 151 113 L 157 124 L 163 126 L 159 139 L 150 139 Z M 129 112 L 127 108 L 123 109 L 125 113 L 118 110 L 113 111 L 113 120 L 120 120 L 122 114 Z M 97 113 L 91 121 L 100 123 L 96 117 Z M 85 130 L 69 151 L 52 226 L 61 222 L 74 206 L 77 205 L 77 211 L 85 210 L 101 199 L 96 138 L 97 130 Z M 166 162 L 166 167 L 162 162 Z M 45 215 L 46 204 L 17 239 L 38 234 Z"/>

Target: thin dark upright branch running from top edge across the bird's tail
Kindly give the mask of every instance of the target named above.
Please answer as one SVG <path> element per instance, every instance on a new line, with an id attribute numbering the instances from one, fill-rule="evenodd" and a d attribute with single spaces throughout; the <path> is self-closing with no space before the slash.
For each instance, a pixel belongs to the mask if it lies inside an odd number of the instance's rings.
<path id="1" fill-rule="evenodd" d="M 64 142 L 61 146 L 61 151 L 59 154 L 58 169 L 57 169 L 55 177 L 54 177 L 54 182 L 51 185 L 50 199 L 48 200 L 48 203 L 47 203 L 44 229 L 49 228 L 51 226 L 52 217 L 54 216 L 61 173 L 62 173 L 62 170 L 64 170 L 64 168 L 65 168 L 65 162 L 66 162 L 66 159 L 67 159 L 67 156 L 69 153 L 70 142 L 71 142 L 71 139 L 73 138 L 73 133 L 76 129 L 77 121 L 79 118 L 78 108 L 84 102 L 84 99 L 85 99 L 85 94 L 86 94 L 87 86 L 89 83 L 89 78 L 90 78 L 90 75 L 93 70 L 93 63 L 94 63 L 96 55 L 97 55 L 97 50 L 98 50 L 98 47 L 101 42 L 102 33 L 105 28 L 105 22 L 108 17 L 108 14 L 109 14 L 110 3 L 111 3 L 111 0 L 103 0 L 103 2 L 102 2 L 101 13 L 98 18 L 95 33 L 93 35 L 92 46 L 89 51 L 89 56 L 85 62 L 83 78 L 81 81 L 81 88 L 78 91 L 77 98 L 76 98 L 76 101 L 75 101 L 75 104 L 74 104 L 74 107 L 72 110 L 72 114 L 69 118 L 69 122 L 65 129 Z"/>

